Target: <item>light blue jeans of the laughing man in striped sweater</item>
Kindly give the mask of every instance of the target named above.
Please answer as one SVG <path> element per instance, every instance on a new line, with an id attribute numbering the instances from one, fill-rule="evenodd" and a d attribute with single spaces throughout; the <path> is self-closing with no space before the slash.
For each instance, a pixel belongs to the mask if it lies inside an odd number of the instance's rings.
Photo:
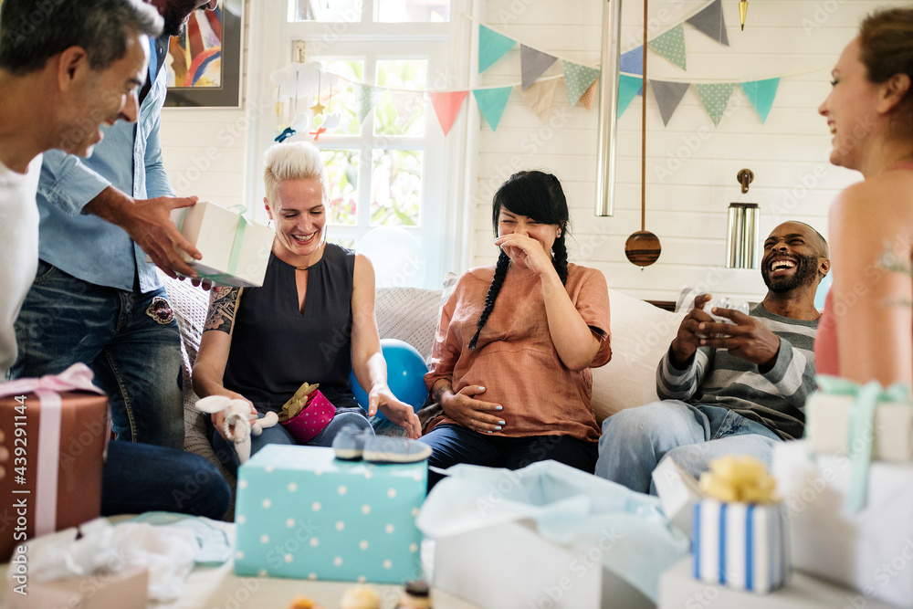
<path id="1" fill-rule="evenodd" d="M 596 476 L 656 495 L 651 474 L 664 457 L 698 478 L 710 461 L 726 455 L 750 455 L 771 467 L 773 446 L 780 441 L 764 425 L 728 408 L 663 400 L 605 419 Z"/>

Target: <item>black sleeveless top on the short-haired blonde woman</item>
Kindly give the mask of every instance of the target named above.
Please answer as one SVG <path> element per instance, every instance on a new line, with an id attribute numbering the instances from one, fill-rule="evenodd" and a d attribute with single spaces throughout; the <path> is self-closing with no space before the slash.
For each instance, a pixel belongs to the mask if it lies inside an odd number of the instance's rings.
<path id="1" fill-rule="evenodd" d="M 299 311 L 295 268 L 269 255 L 262 288 L 241 293 L 223 383 L 257 410 L 278 411 L 301 383 L 340 408 L 358 408 L 352 395 L 352 276 L 355 252 L 328 243 L 308 271 Z"/>

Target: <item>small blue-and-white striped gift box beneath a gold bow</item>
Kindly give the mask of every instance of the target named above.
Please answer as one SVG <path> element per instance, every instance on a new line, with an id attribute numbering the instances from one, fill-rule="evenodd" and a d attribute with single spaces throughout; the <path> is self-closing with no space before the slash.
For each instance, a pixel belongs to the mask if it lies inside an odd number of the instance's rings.
<path id="1" fill-rule="evenodd" d="M 780 504 L 702 499 L 694 506 L 692 527 L 696 579 L 766 593 L 789 578 Z"/>

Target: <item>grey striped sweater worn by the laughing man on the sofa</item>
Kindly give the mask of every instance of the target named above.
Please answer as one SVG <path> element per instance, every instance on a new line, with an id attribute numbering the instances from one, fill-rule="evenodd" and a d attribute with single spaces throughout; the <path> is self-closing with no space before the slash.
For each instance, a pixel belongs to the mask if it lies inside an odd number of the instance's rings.
<path id="1" fill-rule="evenodd" d="M 734 410 L 784 440 L 799 439 L 805 426 L 805 397 L 814 389 L 814 334 L 818 320 L 774 315 L 761 304 L 750 311 L 780 337 L 777 361 L 767 373 L 725 350 L 700 347 L 685 370 L 669 352 L 656 370 L 660 399 Z"/>

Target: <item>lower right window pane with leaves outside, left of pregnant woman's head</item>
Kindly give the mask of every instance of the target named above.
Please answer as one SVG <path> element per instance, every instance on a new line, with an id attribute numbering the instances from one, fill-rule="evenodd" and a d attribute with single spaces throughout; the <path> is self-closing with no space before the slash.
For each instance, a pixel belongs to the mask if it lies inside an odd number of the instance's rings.
<path id="1" fill-rule="evenodd" d="M 373 151 L 371 226 L 418 226 L 422 155 L 421 151 Z"/>

